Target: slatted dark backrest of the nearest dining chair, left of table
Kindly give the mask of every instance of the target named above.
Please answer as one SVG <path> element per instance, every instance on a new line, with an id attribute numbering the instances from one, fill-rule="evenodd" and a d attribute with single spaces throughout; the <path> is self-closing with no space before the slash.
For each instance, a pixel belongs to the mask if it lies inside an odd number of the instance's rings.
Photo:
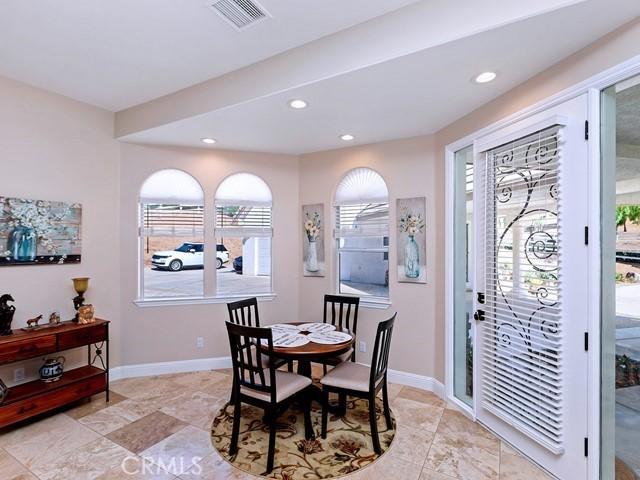
<path id="1" fill-rule="evenodd" d="M 273 356 L 273 334 L 270 328 L 249 327 L 226 322 L 233 364 L 233 388 L 239 393 L 246 387 L 270 395 L 276 401 L 276 371 L 273 362 L 266 368 L 262 359 L 261 344 L 266 340 L 266 355 Z M 266 372 L 267 371 L 267 372 Z M 269 377 L 267 381 L 266 373 Z"/>

